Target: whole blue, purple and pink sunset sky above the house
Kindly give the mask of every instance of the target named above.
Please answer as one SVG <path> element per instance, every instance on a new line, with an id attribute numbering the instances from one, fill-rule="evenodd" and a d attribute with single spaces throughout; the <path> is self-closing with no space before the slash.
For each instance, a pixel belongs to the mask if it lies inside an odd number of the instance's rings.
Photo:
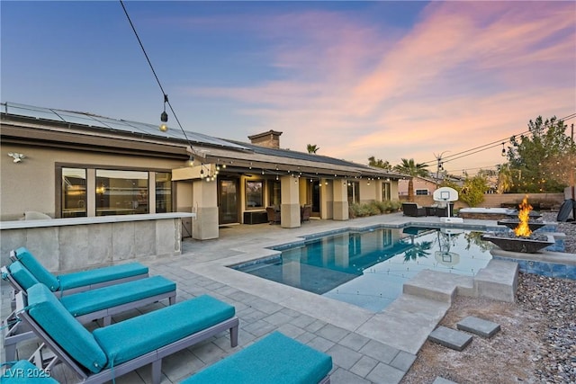
<path id="1" fill-rule="evenodd" d="M 505 163 L 500 142 L 528 121 L 576 112 L 572 1 L 124 5 L 171 129 L 176 117 L 245 142 L 274 129 L 292 150 L 432 172 L 442 156 L 475 174 Z M 2 0 L 0 18 L 3 103 L 160 122 L 163 93 L 119 1 Z"/>

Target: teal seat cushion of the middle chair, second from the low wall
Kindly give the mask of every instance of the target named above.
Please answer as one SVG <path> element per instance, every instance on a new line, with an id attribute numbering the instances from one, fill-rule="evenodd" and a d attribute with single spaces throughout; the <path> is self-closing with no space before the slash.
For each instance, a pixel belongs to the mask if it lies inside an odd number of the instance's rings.
<path id="1" fill-rule="evenodd" d="M 86 290 L 60 298 L 60 302 L 73 316 L 82 316 L 106 308 L 117 307 L 140 299 L 168 293 L 176 289 L 174 281 L 162 276 L 123 282 L 117 285 Z"/>

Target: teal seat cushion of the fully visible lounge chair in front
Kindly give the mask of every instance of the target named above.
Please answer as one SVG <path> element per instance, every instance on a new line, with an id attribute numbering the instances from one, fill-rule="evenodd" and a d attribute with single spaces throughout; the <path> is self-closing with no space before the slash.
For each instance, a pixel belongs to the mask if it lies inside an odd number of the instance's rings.
<path id="1" fill-rule="evenodd" d="M 202 295 L 94 329 L 93 335 L 112 367 L 215 326 L 233 317 L 234 313 L 234 307 L 229 304 Z"/>

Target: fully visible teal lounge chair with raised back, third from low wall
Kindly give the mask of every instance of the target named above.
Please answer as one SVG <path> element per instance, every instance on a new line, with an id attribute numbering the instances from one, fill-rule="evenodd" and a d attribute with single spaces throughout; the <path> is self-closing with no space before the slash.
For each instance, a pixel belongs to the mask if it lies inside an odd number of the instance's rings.
<path id="1" fill-rule="evenodd" d="M 152 383 L 161 379 L 162 359 L 229 330 L 238 345 L 238 317 L 229 304 L 202 295 L 88 331 L 43 284 L 16 295 L 16 313 L 54 353 L 47 365 L 61 361 L 85 383 L 103 383 L 150 364 Z M 41 348 L 31 361 L 41 360 Z"/>

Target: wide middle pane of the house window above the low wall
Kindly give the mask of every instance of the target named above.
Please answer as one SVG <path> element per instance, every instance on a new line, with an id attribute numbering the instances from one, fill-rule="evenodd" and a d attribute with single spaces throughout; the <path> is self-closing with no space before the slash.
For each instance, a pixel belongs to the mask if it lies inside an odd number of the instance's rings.
<path id="1" fill-rule="evenodd" d="M 96 216 L 148 213 L 148 172 L 96 169 Z"/>

